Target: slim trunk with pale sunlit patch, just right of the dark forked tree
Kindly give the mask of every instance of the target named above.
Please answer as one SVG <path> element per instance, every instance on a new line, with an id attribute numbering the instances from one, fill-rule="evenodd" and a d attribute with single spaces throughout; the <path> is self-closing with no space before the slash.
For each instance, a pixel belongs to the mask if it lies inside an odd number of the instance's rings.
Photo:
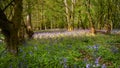
<path id="1" fill-rule="evenodd" d="M 30 0 L 26 0 L 24 1 L 25 3 L 25 8 L 24 10 L 26 10 L 26 14 L 25 14 L 25 22 L 24 22 L 24 26 L 25 26 L 25 29 L 26 29 L 26 33 L 28 35 L 29 38 L 32 38 L 32 35 L 33 35 L 33 27 L 32 27 L 32 22 L 31 22 L 31 13 L 32 13 L 32 1 Z"/>

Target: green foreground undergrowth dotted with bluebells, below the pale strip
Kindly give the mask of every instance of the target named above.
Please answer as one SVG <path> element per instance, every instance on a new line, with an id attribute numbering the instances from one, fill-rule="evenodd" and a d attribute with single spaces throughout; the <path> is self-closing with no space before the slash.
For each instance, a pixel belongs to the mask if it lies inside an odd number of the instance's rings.
<path id="1" fill-rule="evenodd" d="M 13 57 L 0 44 L 0 68 L 107 68 L 120 66 L 120 42 L 118 35 L 61 37 L 29 40 L 19 48 L 19 56 Z M 96 66 L 95 60 L 99 59 Z M 96 66 L 96 67 L 95 67 Z"/>

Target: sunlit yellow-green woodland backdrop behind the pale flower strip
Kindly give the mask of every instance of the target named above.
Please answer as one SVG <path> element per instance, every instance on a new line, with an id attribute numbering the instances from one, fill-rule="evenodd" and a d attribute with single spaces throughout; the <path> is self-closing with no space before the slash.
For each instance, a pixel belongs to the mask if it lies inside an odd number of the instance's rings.
<path id="1" fill-rule="evenodd" d="M 71 31 L 83 28 L 93 29 L 95 33 L 95 30 L 105 29 L 107 23 L 110 23 L 111 29 L 119 26 L 118 0 L 28 1 L 32 2 L 31 23 L 37 30 L 67 28 Z"/>

